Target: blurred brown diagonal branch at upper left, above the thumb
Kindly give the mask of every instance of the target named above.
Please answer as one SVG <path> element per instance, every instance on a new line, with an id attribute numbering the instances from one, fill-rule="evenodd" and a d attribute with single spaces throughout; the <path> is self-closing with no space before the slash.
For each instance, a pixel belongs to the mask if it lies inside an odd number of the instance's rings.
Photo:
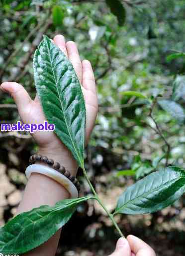
<path id="1" fill-rule="evenodd" d="M 42 35 L 47 31 L 47 29 L 49 28 L 49 26 L 51 24 L 52 24 L 52 21 L 50 18 L 48 18 L 48 21 L 46 22 L 44 27 L 38 32 L 37 36 L 33 40 L 28 53 L 25 55 L 24 58 L 22 58 L 22 60 L 20 60 L 20 63 L 18 65 L 16 72 L 10 76 L 11 81 L 18 82 L 20 77 L 22 77 L 22 75 L 24 74 L 24 69 L 30 60 L 30 57 L 32 56 L 33 52 L 35 51 L 36 47 L 38 46 L 38 44 L 40 43 L 40 41 L 42 39 Z"/>

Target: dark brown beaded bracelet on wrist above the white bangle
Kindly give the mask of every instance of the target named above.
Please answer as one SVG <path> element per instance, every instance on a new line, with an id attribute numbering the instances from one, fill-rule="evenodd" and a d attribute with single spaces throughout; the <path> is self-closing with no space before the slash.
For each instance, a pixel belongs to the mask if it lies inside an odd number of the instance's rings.
<path id="1" fill-rule="evenodd" d="M 64 166 L 61 166 L 58 162 L 55 163 L 53 159 L 48 159 L 46 156 L 31 155 L 29 158 L 29 163 L 35 164 L 36 162 L 43 162 L 44 164 L 47 164 L 49 167 L 52 167 L 56 171 L 60 172 L 75 185 L 78 191 L 80 191 L 80 183 L 77 180 L 77 178 L 71 175 L 71 173 L 68 170 L 66 170 Z"/>

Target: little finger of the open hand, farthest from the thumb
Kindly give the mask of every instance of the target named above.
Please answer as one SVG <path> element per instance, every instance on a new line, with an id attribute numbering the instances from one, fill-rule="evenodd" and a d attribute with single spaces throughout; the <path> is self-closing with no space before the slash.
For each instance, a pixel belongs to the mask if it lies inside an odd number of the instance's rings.
<path id="1" fill-rule="evenodd" d="M 92 91 L 96 95 L 95 79 L 92 70 L 92 65 L 89 60 L 83 60 L 83 80 L 82 85 L 85 89 Z"/>

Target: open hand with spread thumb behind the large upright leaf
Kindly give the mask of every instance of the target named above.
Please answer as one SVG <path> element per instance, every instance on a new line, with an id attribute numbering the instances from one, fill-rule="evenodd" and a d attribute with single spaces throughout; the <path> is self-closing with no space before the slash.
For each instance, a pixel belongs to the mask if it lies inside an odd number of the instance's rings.
<path id="1" fill-rule="evenodd" d="M 66 43 L 63 35 L 56 35 L 53 41 L 70 59 L 80 83 L 82 84 L 82 91 L 86 103 L 87 144 L 93 129 L 98 108 L 92 66 L 88 60 L 83 60 L 81 62 L 75 42 L 68 41 Z M 15 82 L 4 82 L 0 85 L 0 89 L 9 93 L 13 97 L 17 105 L 19 115 L 24 123 L 44 124 L 46 118 L 37 95 L 35 99 L 32 100 L 24 87 Z M 66 168 L 70 169 L 74 175 L 76 174 L 76 161 L 73 159 L 71 152 L 59 140 L 54 132 L 35 131 L 32 136 L 39 146 L 39 154 L 46 155 L 47 157 L 60 162 Z"/>

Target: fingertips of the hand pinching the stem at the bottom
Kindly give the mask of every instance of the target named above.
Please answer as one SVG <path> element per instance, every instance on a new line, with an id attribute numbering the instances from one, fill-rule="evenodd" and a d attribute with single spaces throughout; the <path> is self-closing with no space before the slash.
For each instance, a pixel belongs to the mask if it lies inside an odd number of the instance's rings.
<path id="1" fill-rule="evenodd" d="M 141 239 L 128 236 L 117 241 L 115 251 L 109 256 L 156 256 L 154 250 Z"/>

